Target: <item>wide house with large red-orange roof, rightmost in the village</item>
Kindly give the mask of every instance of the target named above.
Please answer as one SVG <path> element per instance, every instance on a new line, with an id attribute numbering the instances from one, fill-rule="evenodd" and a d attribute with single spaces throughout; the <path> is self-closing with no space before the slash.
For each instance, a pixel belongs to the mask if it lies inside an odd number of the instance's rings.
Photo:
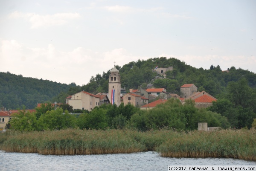
<path id="1" fill-rule="evenodd" d="M 194 93 L 186 99 L 194 100 L 195 107 L 197 108 L 209 107 L 212 105 L 212 101 L 217 101 L 215 97 L 209 95 L 205 91 Z M 184 103 L 186 99 L 183 99 L 182 102 Z"/>

